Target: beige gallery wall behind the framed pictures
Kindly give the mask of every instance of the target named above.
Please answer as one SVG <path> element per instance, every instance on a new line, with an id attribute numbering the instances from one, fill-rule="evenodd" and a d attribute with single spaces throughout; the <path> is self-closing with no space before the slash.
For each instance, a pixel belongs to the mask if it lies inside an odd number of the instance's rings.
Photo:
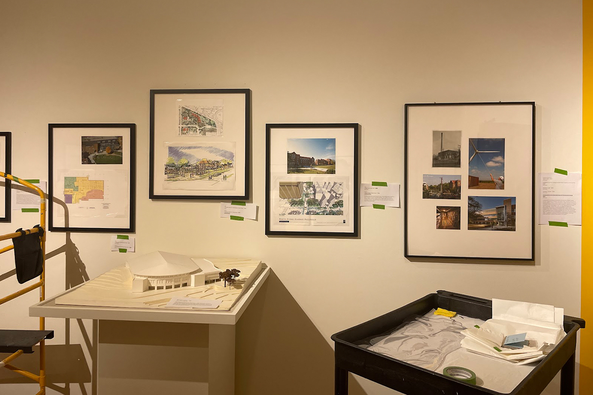
<path id="1" fill-rule="evenodd" d="M 237 394 L 327 394 L 331 334 L 439 289 L 578 316 L 581 230 L 537 227 L 534 265 L 410 262 L 400 208 L 363 208 L 359 239 L 266 237 L 265 124 L 359 123 L 362 181 L 403 183 L 406 102 L 535 101 L 536 171 L 581 171 L 581 17 L 574 0 L 0 0 L 0 130 L 12 172 L 47 179 L 47 123 L 136 123 L 138 254 L 262 259 L 274 274 L 237 326 Z M 182 88 L 253 91 L 258 221 L 148 199 L 149 89 Z M 15 213 L 0 232 L 36 221 Z M 122 264 L 110 237 L 50 233 L 48 296 Z M 17 289 L 12 269 L 3 256 L 2 293 Z M 1 306 L 0 327 L 34 327 L 35 301 Z M 49 393 L 92 393 L 93 323 L 47 326 Z M 34 389 L 0 378 L 0 393 Z M 352 393 L 393 391 L 358 380 Z"/>

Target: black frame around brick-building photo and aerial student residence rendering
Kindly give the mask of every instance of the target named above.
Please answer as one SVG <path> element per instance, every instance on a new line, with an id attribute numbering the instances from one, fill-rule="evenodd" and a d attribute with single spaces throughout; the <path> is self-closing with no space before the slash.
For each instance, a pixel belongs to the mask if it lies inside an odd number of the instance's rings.
<path id="1" fill-rule="evenodd" d="M 295 232 L 270 229 L 270 155 L 273 129 L 352 129 L 353 139 L 353 231 L 352 232 Z M 359 134 L 361 126 L 358 123 L 270 123 L 266 124 L 266 235 L 267 236 L 301 236 L 301 237 L 359 237 L 360 233 L 360 205 L 359 205 Z"/>

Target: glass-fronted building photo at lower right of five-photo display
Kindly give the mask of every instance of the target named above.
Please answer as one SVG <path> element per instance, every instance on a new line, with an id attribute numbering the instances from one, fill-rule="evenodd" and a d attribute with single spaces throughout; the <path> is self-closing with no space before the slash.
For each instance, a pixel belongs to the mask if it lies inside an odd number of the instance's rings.
<path id="1" fill-rule="evenodd" d="M 515 230 L 515 197 L 467 198 L 468 230 Z"/>

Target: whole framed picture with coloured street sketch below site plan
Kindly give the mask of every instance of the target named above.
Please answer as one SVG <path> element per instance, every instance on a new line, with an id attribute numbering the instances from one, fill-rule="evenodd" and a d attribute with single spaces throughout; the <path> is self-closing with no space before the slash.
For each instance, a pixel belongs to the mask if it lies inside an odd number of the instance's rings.
<path id="1" fill-rule="evenodd" d="M 250 89 L 150 91 L 151 199 L 249 198 Z"/>

